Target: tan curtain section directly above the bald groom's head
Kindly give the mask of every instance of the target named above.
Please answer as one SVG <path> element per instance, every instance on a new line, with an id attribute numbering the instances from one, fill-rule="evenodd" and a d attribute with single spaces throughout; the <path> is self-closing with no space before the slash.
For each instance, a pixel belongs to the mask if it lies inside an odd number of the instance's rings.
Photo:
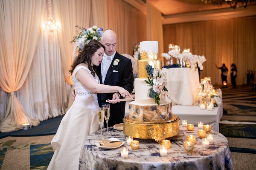
<path id="1" fill-rule="evenodd" d="M 122 0 L 108 0 L 108 26 L 116 32 L 119 54 L 133 55 L 135 43 L 146 40 L 146 16 Z"/>

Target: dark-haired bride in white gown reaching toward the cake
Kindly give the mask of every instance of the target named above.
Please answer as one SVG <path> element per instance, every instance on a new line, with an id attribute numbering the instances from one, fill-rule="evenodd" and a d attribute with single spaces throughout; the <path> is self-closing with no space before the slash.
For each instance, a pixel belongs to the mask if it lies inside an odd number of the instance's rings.
<path id="1" fill-rule="evenodd" d="M 97 93 L 119 92 L 124 98 L 127 95 L 131 97 L 122 87 L 99 84 L 99 77 L 94 70 L 102 61 L 104 49 L 97 40 L 87 41 L 71 66 L 69 72 L 72 75 L 76 100 L 64 115 L 51 141 L 55 152 L 47 170 L 79 169 L 79 156 L 84 138 L 99 130 Z"/>

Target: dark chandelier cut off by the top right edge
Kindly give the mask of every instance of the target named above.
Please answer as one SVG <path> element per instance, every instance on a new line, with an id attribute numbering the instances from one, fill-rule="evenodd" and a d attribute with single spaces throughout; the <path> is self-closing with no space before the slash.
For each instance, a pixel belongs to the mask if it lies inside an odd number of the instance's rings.
<path id="1" fill-rule="evenodd" d="M 212 5 L 222 6 L 223 4 L 227 3 L 230 5 L 231 8 L 236 9 L 239 6 L 247 7 L 247 3 L 251 3 L 255 0 L 201 0 L 204 3 L 212 3 Z"/>

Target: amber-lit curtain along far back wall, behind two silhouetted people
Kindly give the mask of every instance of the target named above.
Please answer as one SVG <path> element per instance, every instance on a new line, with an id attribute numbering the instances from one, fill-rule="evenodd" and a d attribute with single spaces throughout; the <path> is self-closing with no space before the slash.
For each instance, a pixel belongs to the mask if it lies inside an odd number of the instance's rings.
<path id="1" fill-rule="evenodd" d="M 212 77 L 212 84 L 221 85 L 221 71 L 216 69 L 225 63 L 229 69 L 231 64 L 238 69 L 236 83 L 246 84 L 248 69 L 256 70 L 256 17 L 242 17 L 227 20 L 214 20 L 172 24 L 163 26 L 164 52 L 168 52 L 168 44 L 180 45 L 181 50 L 189 48 L 192 54 L 204 55 L 204 70 L 200 77 Z"/>

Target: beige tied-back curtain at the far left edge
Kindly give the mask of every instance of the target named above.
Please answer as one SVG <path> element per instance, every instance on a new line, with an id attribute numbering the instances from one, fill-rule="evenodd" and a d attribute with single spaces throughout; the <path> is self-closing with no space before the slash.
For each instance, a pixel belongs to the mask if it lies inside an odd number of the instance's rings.
<path id="1" fill-rule="evenodd" d="M 29 72 L 44 4 L 44 0 L 0 1 L 0 86 L 10 94 L 6 116 L 0 125 L 1 132 L 20 130 L 24 123 L 39 124 L 25 112 L 14 92 L 20 89 Z"/>

